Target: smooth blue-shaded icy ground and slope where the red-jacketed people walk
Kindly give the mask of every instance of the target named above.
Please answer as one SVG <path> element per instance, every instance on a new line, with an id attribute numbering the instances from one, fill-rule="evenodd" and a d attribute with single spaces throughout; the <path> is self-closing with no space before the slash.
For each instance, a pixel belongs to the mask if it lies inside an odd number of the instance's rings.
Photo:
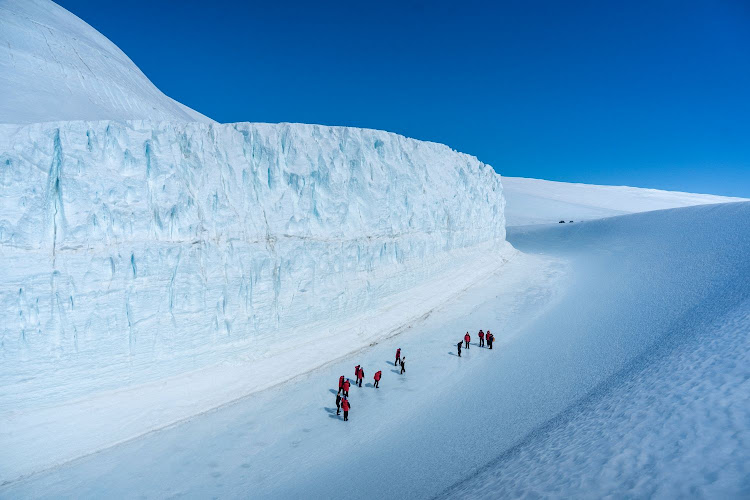
<path id="1" fill-rule="evenodd" d="M 733 203 L 512 230 L 525 253 L 399 337 L 0 496 L 745 497 L 748 227 Z M 497 349 L 457 358 L 480 327 Z M 359 363 L 384 379 L 344 424 Z"/>

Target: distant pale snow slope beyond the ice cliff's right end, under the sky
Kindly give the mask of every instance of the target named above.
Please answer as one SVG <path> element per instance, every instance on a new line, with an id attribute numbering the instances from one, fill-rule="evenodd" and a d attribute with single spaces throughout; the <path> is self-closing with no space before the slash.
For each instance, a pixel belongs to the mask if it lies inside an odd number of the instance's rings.
<path id="1" fill-rule="evenodd" d="M 508 226 L 582 221 L 629 213 L 711 203 L 748 201 L 710 194 L 681 193 L 628 186 L 503 177 Z"/>

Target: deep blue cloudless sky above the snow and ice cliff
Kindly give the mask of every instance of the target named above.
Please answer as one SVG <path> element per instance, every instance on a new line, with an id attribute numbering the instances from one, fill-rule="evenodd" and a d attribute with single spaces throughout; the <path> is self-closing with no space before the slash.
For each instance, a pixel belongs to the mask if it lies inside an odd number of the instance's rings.
<path id="1" fill-rule="evenodd" d="M 60 0 L 220 122 L 438 141 L 504 175 L 750 197 L 750 2 Z"/>

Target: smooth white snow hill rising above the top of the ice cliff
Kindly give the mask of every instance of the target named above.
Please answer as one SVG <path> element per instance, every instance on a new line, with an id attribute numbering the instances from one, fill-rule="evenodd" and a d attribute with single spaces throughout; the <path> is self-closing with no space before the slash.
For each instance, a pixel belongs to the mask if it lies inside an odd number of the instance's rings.
<path id="1" fill-rule="evenodd" d="M 0 123 L 142 119 L 212 121 L 59 5 L 0 0 Z"/>

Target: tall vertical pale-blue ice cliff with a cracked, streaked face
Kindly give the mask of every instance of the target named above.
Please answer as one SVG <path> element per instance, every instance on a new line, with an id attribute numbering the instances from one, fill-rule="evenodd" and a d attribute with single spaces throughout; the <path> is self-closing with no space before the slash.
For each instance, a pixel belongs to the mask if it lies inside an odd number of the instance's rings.
<path id="1" fill-rule="evenodd" d="M 0 387 L 310 341 L 503 241 L 503 208 L 490 166 L 381 131 L 2 125 Z"/>

